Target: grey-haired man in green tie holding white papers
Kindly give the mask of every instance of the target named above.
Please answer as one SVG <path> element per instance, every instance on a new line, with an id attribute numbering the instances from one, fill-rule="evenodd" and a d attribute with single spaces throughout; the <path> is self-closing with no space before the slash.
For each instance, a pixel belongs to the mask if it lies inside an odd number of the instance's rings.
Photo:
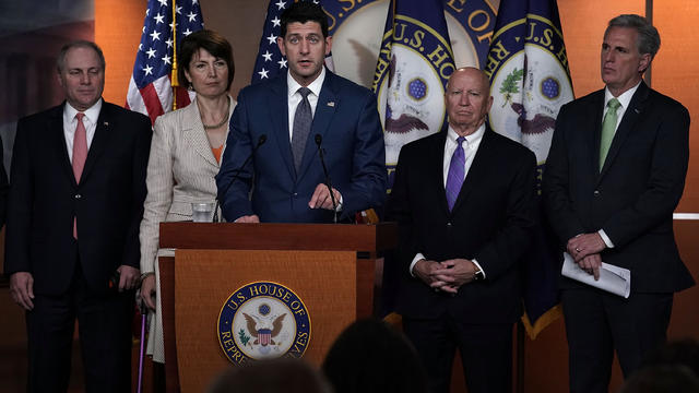
<path id="1" fill-rule="evenodd" d="M 606 392 L 614 349 L 625 377 L 638 369 L 666 338 L 673 293 L 694 285 L 673 234 L 689 114 L 642 81 L 659 48 L 645 19 L 609 21 L 605 88 L 565 105 L 556 121 L 543 182 L 552 227 L 595 278 L 602 262 L 631 271 L 628 299 L 561 278 L 571 392 Z"/>

